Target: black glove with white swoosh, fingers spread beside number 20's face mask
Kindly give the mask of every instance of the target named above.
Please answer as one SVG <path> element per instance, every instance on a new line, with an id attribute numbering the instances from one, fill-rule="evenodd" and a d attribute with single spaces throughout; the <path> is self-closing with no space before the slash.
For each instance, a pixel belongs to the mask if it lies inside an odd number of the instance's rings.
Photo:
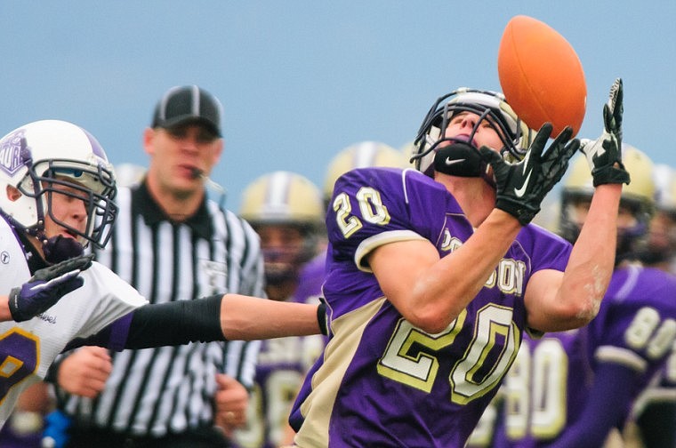
<path id="1" fill-rule="evenodd" d="M 579 140 L 570 140 L 573 129 L 568 126 L 551 142 L 547 153 L 543 150 L 551 135 L 550 123 L 543 124 L 535 135 L 526 157 L 510 164 L 491 148 L 481 147 L 479 152 L 493 167 L 497 197 L 495 207 L 510 213 L 522 226 L 527 225 L 540 211 L 544 196 L 566 172 L 568 160 L 580 147 Z"/>

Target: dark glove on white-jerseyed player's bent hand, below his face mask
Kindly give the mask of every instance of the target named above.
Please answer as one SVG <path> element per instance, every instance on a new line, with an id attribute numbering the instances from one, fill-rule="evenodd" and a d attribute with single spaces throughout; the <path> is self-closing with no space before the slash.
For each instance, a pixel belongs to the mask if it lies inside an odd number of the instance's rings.
<path id="1" fill-rule="evenodd" d="M 49 268 L 42 268 L 20 287 L 13 288 L 9 295 L 12 319 L 22 322 L 43 313 L 68 292 L 82 286 L 80 272 L 92 266 L 93 255 L 61 261 Z"/>

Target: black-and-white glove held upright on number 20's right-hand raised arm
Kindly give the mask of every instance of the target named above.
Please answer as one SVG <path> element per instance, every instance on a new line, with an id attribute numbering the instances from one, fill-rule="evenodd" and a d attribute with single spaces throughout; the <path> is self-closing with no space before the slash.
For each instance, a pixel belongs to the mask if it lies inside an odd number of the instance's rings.
<path id="1" fill-rule="evenodd" d="M 596 140 L 582 140 L 581 150 L 594 179 L 594 187 L 630 181 L 629 172 L 622 164 L 622 79 L 617 78 L 610 88 L 608 102 L 603 105 L 603 132 Z"/>

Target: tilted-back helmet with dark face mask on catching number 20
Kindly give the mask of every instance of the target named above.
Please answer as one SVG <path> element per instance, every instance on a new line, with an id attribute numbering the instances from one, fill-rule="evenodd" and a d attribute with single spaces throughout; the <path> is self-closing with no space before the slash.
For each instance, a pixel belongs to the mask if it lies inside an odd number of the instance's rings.
<path id="1" fill-rule="evenodd" d="M 479 116 L 471 136 L 477 132 L 483 120 L 487 120 L 500 135 L 503 148 L 499 149 L 506 160 L 521 160 L 526 155 L 533 132 L 514 113 L 503 94 L 462 87 L 436 100 L 422 120 L 411 157 L 418 171 L 432 177 L 439 148 L 451 147 L 455 147 L 456 152 L 444 154 L 444 158 L 450 156 L 464 163 L 454 164 L 454 172 L 449 174 L 478 177 L 485 171 L 482 170 L 478 148 L 471 147 L 465 140 L 445 137 L 451 118 L 459 112 L 471 112 Z M 447 144 L 440 145 L 442 142 Z"/>

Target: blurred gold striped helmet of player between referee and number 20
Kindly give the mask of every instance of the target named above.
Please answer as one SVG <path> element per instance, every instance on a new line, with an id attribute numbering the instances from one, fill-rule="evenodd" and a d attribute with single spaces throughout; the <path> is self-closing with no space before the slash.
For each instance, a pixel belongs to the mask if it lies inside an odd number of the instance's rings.
<path id="1" fill-rule="evenodd" d="M 319 189 L 300 174 L 271 172 L 245 188 L 241 204 L 239 216 L 261 236 L 267 283 L 296 280 L 302 264 L 318 253 L 325 216 Z M 278 234 L 283 241 L 271 241 L 270 228 L 289 230 Z"/>

